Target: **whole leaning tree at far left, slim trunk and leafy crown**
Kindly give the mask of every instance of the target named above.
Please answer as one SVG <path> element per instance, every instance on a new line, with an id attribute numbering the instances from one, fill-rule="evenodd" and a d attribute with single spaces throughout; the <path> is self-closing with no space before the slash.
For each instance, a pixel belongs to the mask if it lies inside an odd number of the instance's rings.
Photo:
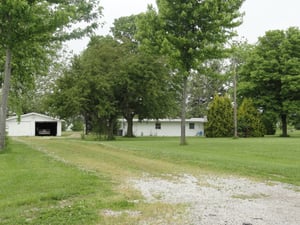
<path id="1" fill-rule="evenodd" d="M 5 146 L 7 102 L 13 55 L 32 44 L 51 48 L 55 42 L 82 37 L 97 27 L 98 0 L 3 0 L 0 3 L 0 45 L 5 50 L 5 69 L 0 108 L 0 150 Z M 72 25 L 88 22 L 84 29 Z M 32 53 L 34 54 L 34 53 Z"/>

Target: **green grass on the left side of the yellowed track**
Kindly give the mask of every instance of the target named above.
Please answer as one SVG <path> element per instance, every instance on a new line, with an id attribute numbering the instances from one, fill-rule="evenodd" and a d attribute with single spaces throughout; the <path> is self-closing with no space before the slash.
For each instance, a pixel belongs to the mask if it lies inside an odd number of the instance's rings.
<path id="1" fill-rule="evenodd" d="M 0 154 L 0 224 L 97 224 L 100 209 L 127 204 L 101 174 L 23 143 L 10 149 Z"/>

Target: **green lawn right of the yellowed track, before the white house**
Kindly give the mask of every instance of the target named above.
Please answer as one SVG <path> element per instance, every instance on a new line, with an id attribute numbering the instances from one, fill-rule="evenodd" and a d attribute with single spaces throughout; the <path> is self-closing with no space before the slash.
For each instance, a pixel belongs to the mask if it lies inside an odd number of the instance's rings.
<path id="1" fill-rule="evenodd" d="M 195 169 L 300 185 L 300 136 L 190 138 L 187 146 L 178 143 L 177 138 L 143 138 L 109 145 Z"/>

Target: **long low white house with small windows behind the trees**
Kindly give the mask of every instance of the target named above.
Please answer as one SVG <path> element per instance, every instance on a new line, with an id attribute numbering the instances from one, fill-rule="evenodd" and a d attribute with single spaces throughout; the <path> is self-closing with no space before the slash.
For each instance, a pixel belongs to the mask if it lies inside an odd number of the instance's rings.
<path id="1" fill-rule="evenodd" d="M 204 136 L 204 118 L 186 119 L 186 136 Z M 121 122 L 122 135 L 126 135 L 127 122 Z M 135 136 L 180 136 L 180 119 L 160 119 L 160 120 L 133 120 L 133 135 Z"/>

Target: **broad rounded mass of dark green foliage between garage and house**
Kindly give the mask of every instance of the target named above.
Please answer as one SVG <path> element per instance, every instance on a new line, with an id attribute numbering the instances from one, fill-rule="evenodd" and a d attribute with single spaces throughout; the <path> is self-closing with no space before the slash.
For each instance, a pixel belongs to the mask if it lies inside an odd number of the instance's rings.
<path id="1" fill-rule="evenodd" d="M 133 47 L 129 40 L 93 37 L 57 80 L 48 99 L 52 112 L 66 119 L 81 115 L 89 131 L 108 139 L 116 133 L 118 117 L 168 115 L 174 106 L 174 91 L 164 61 L 137 47 L 133 51 Z"/>

